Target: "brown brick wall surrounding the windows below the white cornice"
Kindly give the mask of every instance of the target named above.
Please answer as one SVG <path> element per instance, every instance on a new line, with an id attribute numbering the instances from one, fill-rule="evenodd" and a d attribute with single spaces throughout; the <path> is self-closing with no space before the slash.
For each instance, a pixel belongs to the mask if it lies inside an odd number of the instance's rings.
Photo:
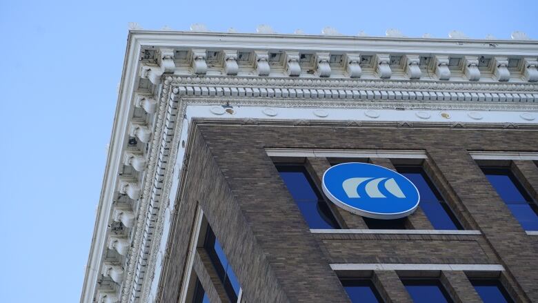
<path id="1" fill-rule="evenodd" d="M 506 281 L 517 296 L 523 302 L 538 302 L 537 240 L 524 233 L 466 151 L 538 150 L 536 130 L 208 122 L 199 124 L 193 135 L 187 182 L 161 280 L 163 302 L 175 302 L 172 298 L 179 292 L 192 204 L 197 201 L 223 244 L 248 302 L 348 302 L 329 262 L 503 264 Z M 535 146 L 528 146 L 529 142 Z M 264 148 L 426 150 L 429 159 L 424 166 L 432 181 L 461 223 L 483 235 L 312 235 Z M 307 162 L 319 182 L 328 163 L 318 158 Z M 536 188 L 533 178 L 530 173 L 528 183 Z M 365 228 L 359 218 L 338 212 L 349 228 Z M 420 213 L 413 216 L 417 216 L 410 219 L 413 227 L 431 228 Z M 445 277 L 454 281 L 452 289 L 458 297 L 468 295 L 463 276 L 446 273 Z M 375 279 L 391 302 L 410 302 L 395 272 L 376 271 Z M 476 297 L 468 302 L 472 300 Z"/>

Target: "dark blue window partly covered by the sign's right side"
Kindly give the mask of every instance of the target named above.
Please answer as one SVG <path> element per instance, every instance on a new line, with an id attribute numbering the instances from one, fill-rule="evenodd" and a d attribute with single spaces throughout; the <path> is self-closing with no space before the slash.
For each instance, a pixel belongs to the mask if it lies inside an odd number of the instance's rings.
<path id="1" fill-rule="evenodd" d="M 435 229 L 463 229 L 421 167 L 401 166 L 397 171 L 417 186 L 420 193 L 419 207 Z"/>

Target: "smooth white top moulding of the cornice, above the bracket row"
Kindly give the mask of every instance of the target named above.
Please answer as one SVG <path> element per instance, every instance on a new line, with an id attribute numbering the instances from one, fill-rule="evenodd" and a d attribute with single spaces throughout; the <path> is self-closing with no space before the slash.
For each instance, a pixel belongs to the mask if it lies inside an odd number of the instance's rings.
<path id="1" fill-rule="evenodd" d="M 263 35 L 218 32 L 130 31 L 130 39 L 141 46 L 163 48 L 259 49 L 412 54 L 512 55 L 537 57 L 537 41 L 477 39 L 419 39 L 394 37 L 350 37 L 328 35 Z M 133 60 L 137 57 L 130 57 Z"/>

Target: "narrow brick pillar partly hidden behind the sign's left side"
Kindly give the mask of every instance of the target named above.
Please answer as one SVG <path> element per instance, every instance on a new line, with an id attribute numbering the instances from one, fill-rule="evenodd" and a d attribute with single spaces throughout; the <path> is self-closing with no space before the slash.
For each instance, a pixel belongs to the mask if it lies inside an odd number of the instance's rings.
<path id="1" fill-rule="evenodd" d="M 330 168 L 330 164 L 327 161 L 327 158 L 324 157 L 308 157 L 307 163 L 306 163 L 306 169 L 310 171 L 310 175 L 312 175 L 312 179 L 314 179 L 314 182 L 316 182 L 317 186 L 321 188 L 321 180 L 323 179 L 323 173 Z M 332 202 L 328 202 L 332 204 Z M 331 205 L 332 210 L 339 215 L 340 219 L 343 220 L 343 222 L 346 224 L 347 228 L 358 228 L 358 229 L 367 229 L 368 226 L 366 226 L 366 222 L 364 222 L 364 219 L 359 216 L 355 215 L 354 213 L 350 213 L 343 208 L 339 208 L 338 206 L 335 206 L 334 204 Z"/>

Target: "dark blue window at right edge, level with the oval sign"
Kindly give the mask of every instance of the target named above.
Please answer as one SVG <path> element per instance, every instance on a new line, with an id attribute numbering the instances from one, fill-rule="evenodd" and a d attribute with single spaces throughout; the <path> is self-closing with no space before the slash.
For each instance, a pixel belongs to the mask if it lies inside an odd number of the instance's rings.
<path id="1" fill-rule="evenodd" d="M 519 224 L 526 231 L 538 231 L 538 207 L 510 169 L 491 167 L 481 169 Z"/>

